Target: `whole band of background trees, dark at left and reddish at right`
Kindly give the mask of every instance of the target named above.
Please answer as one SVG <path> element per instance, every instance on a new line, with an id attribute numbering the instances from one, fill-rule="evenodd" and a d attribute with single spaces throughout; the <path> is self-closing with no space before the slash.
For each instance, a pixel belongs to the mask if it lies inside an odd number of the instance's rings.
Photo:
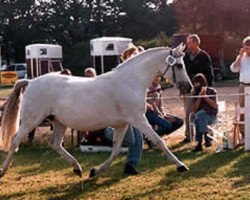
<path id="1" fill-rule="evenodd" d="M 3 59 L 8 62 L 24 62 L 26 45 L 58 43 L 64 47 L 64 65 L 78 73 L 81 66 L 90 65 L 87 44 L 96 37 L 130 37 L 138 41 L 137 43 L 142 43 L 142 46 L 152 47 L 168 44 L 167 40 L 163 39 L 166 41 L 164 42 L 161 39 L 161 35 L 170 37 L 177 31 L 219 33 L 225 35 L 229 41 L 238 41 L 238 38 L 241 40 L 250 32 L 248 0 L 174 0 L 172 4 L 166 2 L 2 0 L 0 45 Z M 79 49 L 81 46 L 85 49 Z"/>

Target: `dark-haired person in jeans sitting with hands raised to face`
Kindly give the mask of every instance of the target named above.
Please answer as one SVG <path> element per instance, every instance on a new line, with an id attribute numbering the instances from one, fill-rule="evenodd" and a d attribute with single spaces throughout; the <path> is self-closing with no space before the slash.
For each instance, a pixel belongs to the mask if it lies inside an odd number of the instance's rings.
<path id="1" fill-rule="evenodd" d="M 208 137 L 208 125 L 211 125 L 216 120 L 218 112 L 217 91 L 208 87 L 207 79 L 203 74 L 197 74 L 193 80 L 193 94 L 195 96 L 202 95 L 193 99 L 193 114 L 196 130 L 197 146 L 194 152 L 202 151 L 202 137 L 205 138 L 205 146 L 212 145 L 212 139 Z M 210 96 L 211 95 L 211 96 Z"/>

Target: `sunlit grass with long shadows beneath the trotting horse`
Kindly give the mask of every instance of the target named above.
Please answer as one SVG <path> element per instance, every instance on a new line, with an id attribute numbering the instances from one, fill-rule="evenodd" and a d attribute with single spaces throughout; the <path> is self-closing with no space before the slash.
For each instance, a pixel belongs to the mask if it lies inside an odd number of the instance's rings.
<path id="1" fill-rule="evenodd" d="M 11 168 L 0 179 L 0 199 L 249 199 L 250 158 L 242 149 L 219 154 L 191 153 L 188 146 L 171 149 L 190 171 L 178 173 L 158 150 L 144 151 L 142 175 L 124 176 L 125 156 L 107 171 L 88 180 L 89 169 L 108 153 L 70 152 L 79 160 L 84 177 L 45 145 L 25 145 L 15 154 Z M 5 158 L 0 153 L 0 161 Z"/>

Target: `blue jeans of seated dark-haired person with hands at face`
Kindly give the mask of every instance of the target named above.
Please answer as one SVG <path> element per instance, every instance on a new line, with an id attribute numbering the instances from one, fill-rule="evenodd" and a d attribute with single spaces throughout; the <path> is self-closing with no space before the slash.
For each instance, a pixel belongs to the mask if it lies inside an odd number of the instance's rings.
<path id="1" fill-rule="evenodd" d="M 205 110 L 200 110 L 195 113 L 195 130 L 196 130 L 196 141 L 202 142 L 202 137 L 204 135 L 205 142 L 210 143 L 211 139 L 207 136 L 207 126 L 214 123 L 216 120 L 216 115 L 209 115 Z"/>

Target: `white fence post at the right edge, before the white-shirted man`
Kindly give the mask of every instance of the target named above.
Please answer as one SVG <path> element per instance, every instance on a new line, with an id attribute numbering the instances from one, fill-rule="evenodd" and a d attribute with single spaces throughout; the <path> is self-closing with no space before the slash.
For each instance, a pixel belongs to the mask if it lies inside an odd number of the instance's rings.
<path id="1" fill-rule="evenodd" d="M 250 87 L 245 87 L 245 109 L 244 109 L 244 125 L 245 125 L 245 150 L 250 150 Z"/>

